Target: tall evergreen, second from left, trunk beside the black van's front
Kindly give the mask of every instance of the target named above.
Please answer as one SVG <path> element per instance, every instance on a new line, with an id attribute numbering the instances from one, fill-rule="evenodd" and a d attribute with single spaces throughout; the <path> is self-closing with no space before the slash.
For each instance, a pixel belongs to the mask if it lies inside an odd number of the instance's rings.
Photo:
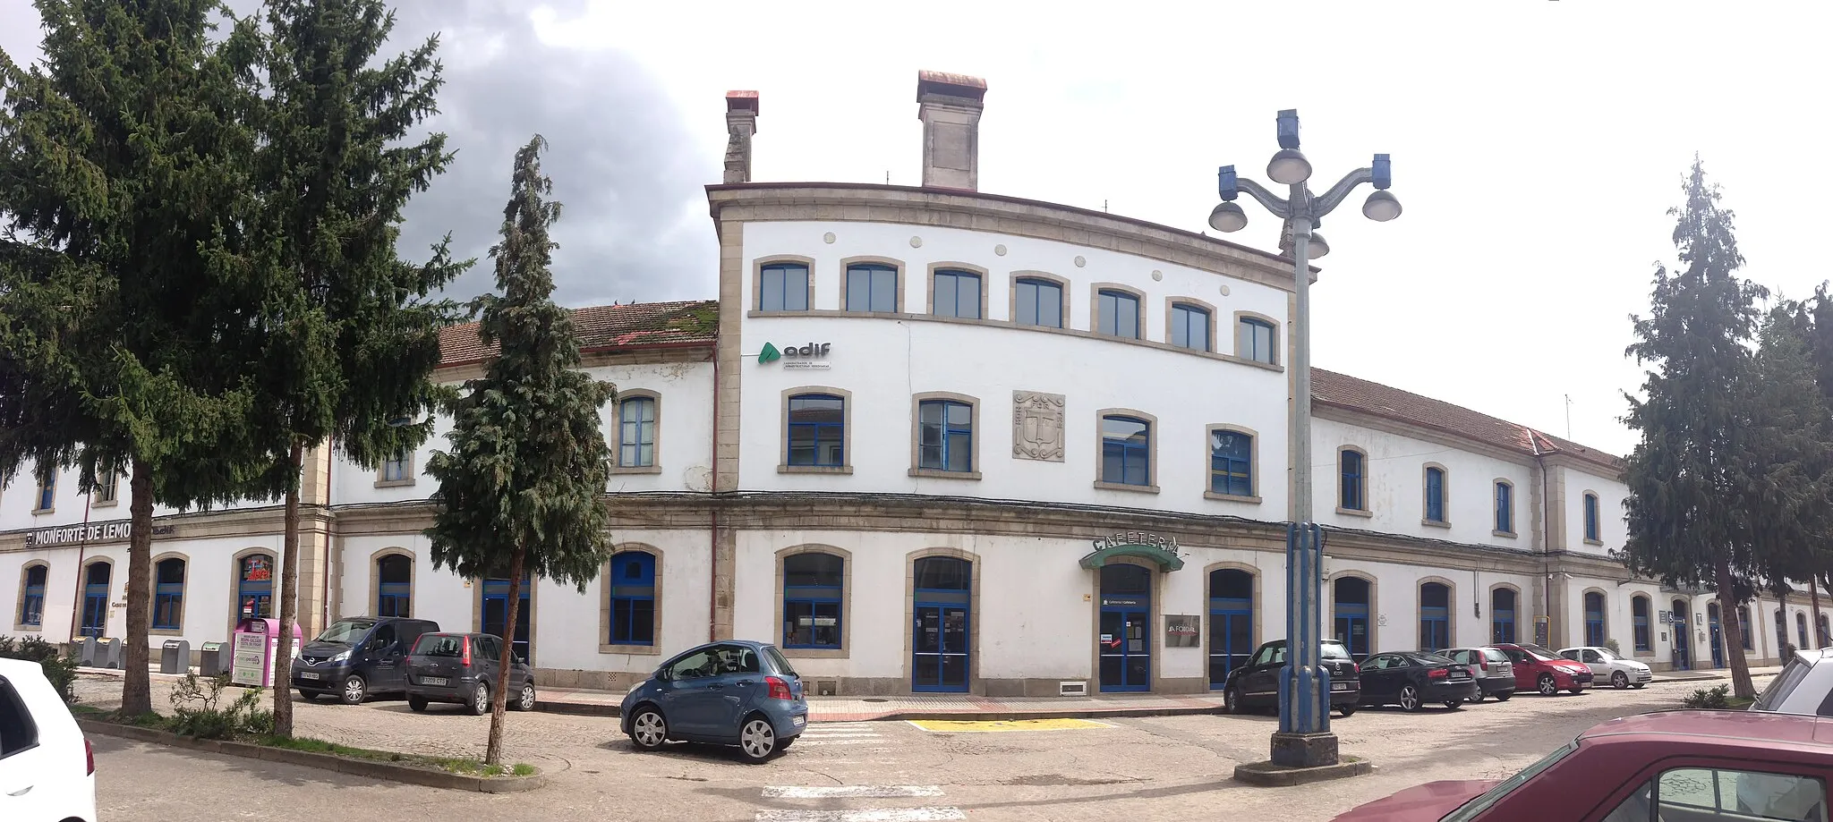
<path id="1" fill-rule="evenodd" d="M 427 264 L 396 254 L 401 209 L 451 161 L 444 134 L 409 139 L 436 114 L 438 37 L 376 60 L 394 29 L 383 0 L 268 0 L 264 18 L 258 62 L 269 93 L 255 110 L 262 200 L 249 264 L 273 278 L 260 377 L 262 410 L 286 438 L 277 454 L 288 487 L 275 681 L 288 683 L 302 456 L 330 441 L 378 469 L 425 441 L 431 419 L 401 423 L 436 397 L 438 335 L 456 313 L 429 295 L 469 262 L 453 264 L 444 242 Z M 284 685 L 273 716 L 290 736 Z"/>

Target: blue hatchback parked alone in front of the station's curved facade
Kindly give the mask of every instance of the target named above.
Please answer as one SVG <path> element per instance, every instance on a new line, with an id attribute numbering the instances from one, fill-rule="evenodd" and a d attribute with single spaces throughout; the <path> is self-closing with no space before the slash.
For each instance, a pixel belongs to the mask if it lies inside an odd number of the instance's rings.
<path id="1" fill-rule="evenodd" d="M 687 650 L 623 698 L 623 732 L 643 751 L 706 741 L 764 762 L 807 725 L 801 676 L 777 646 L 746 639 Z"/>

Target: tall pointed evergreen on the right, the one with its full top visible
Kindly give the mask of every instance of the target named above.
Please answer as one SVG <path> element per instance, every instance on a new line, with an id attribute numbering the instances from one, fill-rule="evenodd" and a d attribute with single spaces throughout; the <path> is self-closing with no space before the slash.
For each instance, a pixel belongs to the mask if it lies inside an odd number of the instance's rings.
<path id="1" fill-rule="evenodd" d="M 1628 352 L 1648 366 L 1644 397 L 1628 395 L 1624 423 L 1642 441 L 1630 452 L 1624 503 L 1630 538 L 1624 564 L 1670 586 L 1718 589 L 1725 633 L 1740 635 L 1740 591 L 1758 588 L 1767 564 L 1758 555 L 1743 505 L 1743 450 L 1751 421 L 1745 399 L 1754 379 L 1749 341 L 1756 331 L 1762 286 L 1738 276 L 1743 256 L 1732 212 L 1707 183 L 1696 157 L 1683 187 L 1674 245 L 1679 267 L 1655 269 L 1648 317 L 1631 317 Z M 1754 696 L 1741 643 L 1730 644 L 1732 687 Z"/>

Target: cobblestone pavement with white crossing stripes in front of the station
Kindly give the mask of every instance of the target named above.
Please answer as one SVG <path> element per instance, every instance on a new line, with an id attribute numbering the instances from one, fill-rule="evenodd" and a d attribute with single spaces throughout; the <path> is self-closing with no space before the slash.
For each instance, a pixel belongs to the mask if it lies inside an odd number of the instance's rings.
<path id="1" fill-rule="evenodd" d="M 510 760 L 552 776 L 548 787 L 511 796 L 392 785 L 121 740 L 97 741 L 97 776 L 104 818 L 231 820 L 249 818 L 247 811 L 268 802 L 284 809 L 374 798 L 374 807 L 412 817 L 462 809 L 473 820 L 797 822 L 873 811 L 851 818 L 1094 822 L 1210 818 L 1217 807 L 1243 818 L 1327 820 L 1421 782 L 1512 774 L 1589 725 L 1677 707 L 1696 687 L 1523 694 L 1419 714 L 1364 708 L 1336 719 L 1334 730 L 1344 752 L 1371 758 L 1377 773 L 1290 789 L 1230 780 L 1235 763 L 1267 756 L 1270 716 L 1129 718 L 999 732 L 818 723 L 785 756 L 744 765 L 728 751 L 700 745 L 640 752 L 610 718 L 510 714 Z M 84 677 L 79 690 L 86 703 L 108 707 L 119 699 L 119 679 Z M 297 705 L 297 721 L 301 734 L 350 745 L 473 756 L 488 729 L 488 718 L 438 707 L 414 714 L 400 701 Z M 191 800 L 172 785 L 205 787 Z M 238 807 L 224 791 L 264 798 Z"/>

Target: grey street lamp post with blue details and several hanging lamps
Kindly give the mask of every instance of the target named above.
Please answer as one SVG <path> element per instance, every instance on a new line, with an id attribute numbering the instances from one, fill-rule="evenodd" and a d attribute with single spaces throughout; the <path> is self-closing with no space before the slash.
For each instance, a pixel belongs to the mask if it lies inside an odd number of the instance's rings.
<path id="1" fill-rule="evenodd" d="M 1316 234 L 1320 218 L 1336 209 L 1355 187 L 1371 183 L 1375 192 L 1362 203 L 1362 214 L 1375 222 L 1400 216 L 1400 201 L 1388 192 L 1391 167 L 1386 154 L 1377 154 L 1369 168 L 1356 168 L 1338 179 L 1322 196 L 1305 185 L 1311 179 L 1311 161 L 1298 150 L 1298 110 L 1279 112 L 1279 152 L 1267 163 L 1267 176 L 1285 185 L 1281 200 L 1259 183 L 1235 176 L 1235 167 L 1217 170 L 1217 189 L 1223 201 L 1210 212 L 1215 231 L 1241 231 L 1248 216 L 1235 203 L 1241 192 L 1259 200 L 1267 211 L 1285 220 L 1281 247 L 1292 254 L 1292 287 L 1298 313 L 1292 320 L 1292 355 L 1298 375 L 1294 388 L 1289 452 L 1292 460 L 1290 524 L 1285 533 L 1285 619 L 1287 665 L 1279 668 L 1279 730 L 1272 734 L 1272 765 L 1323 767 L 1336 765 L 1336 734 L 1331 732 L 1331 674 L 1322 666 L 1323 615 L 1320 597 L 1323 588 L 1323 536 L 1312 522 L 1311 481 L 1311 265 L 1329 253 L 1329 243 Z"/>

